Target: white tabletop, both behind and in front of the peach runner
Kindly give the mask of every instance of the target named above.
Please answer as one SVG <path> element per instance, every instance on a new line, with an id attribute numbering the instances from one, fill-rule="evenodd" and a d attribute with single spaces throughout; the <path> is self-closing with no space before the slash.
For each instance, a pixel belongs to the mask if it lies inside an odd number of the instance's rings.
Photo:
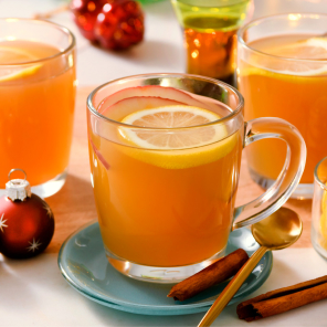
<path id="1" fill-rule="evenodd" d="M 2 0 L 1 17 L 27 17 L 57 8 L 59 0 Z M 254 18 L 278 12 L 325 12 L 327 0 L 255 0 Z M 129 52 L 113 53 L 92 46 L 74 25 L 70 13 L 52 20 L 73 31 L 77 39 L 80 85 L 99 85 L 126 75 L 149 72 L 183 72 L 182 39 L 168 1 L 144 7 L 145 41 Z M 203 314 L 143 316 L 98 305 L 75 292 L 62 277 L 56 254 L 28 261 L 0 255 L 0 326 L 197 326 Z M 327 262 L 310 249 L 274 252 L 272 274 L 255 296 L 327 274 Z M 251 323 L 251 326 L 327 326 L 327 300 Z M 213 326 L 249 326 L 239 320 L 236 305 L 224 309 Z"/>

